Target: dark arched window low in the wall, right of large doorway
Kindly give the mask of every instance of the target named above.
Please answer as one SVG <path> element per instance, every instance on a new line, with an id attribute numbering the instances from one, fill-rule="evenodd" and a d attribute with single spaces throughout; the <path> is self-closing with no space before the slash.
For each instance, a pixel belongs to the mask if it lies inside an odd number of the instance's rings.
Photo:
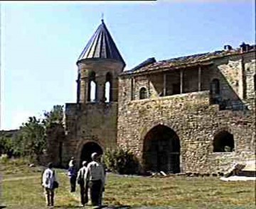
<path id="1" fill-rule="evenodd" d="M 213 140 L 213 152 L 233 152 L 235 148 L 234 136 L 228 131 L 220 131 Z"/>

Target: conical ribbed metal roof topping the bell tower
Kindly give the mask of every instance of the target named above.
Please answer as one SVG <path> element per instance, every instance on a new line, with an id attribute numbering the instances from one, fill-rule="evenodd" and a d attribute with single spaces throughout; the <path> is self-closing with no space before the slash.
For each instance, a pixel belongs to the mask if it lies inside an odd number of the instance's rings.
<path id="1" fill-rule="evenodd" d="M 82 50 L 78 62 L 90 58 L 118 60 L 125 65 L 125 62 L 117 50 L 117 46 L 103 20 L 94 35 L 92 35 L 92 38 L 90 38 L 84 50 Z"/>

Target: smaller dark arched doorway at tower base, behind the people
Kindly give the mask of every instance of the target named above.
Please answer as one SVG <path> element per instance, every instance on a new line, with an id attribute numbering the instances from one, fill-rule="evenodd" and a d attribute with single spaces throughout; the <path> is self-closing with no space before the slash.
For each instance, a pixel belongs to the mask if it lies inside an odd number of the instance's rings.
<path id="1" fill-rule="evenodd" d="M 80 166 L 83 161 L 91 162 L 91 155 L 93 152 L 97 152 L 98 154 L 103 154 L 102 147 L 95 142 L 87 142 L 82 147 L 81 156 L 80 156 Z"/>

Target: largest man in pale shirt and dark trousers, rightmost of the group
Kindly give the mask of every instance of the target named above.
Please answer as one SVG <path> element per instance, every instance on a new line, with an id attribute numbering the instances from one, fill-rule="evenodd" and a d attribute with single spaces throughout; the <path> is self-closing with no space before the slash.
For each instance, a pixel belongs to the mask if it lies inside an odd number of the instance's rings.
<path id="1" fill-rule="evenodd" d="M 105 188 L 105 169 L 100 163 L 100 155 L 92 153 L 92 162 L 87 165 L 85 179 L 89 181 L 92 205 L 101 205 L 102 191 Z"/>

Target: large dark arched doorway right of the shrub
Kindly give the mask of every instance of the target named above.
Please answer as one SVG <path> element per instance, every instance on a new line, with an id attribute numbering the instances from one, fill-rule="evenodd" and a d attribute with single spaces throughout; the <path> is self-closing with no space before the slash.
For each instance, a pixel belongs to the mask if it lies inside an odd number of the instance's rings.
<path id="1" fill-rule="evenodd" d="M 156 125 L 144 138 L 143 164 L 146 171 L 180 172 L 178 135 L 165 125 Z"/>

